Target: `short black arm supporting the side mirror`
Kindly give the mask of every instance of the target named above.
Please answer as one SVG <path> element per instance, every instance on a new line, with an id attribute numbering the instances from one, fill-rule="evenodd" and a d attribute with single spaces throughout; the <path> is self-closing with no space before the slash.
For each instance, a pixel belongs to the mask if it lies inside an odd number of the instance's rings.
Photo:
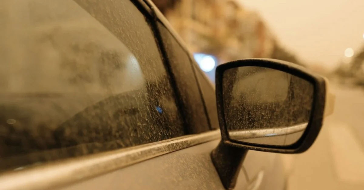
<path id="1" fill-rule="evenodd" d="M 247 152 L 247 149 L 242 149 L 223 140 L 211 152 L 212 162 L 226 189 L 233 189 L 235 187 L 241 165 Z"/>

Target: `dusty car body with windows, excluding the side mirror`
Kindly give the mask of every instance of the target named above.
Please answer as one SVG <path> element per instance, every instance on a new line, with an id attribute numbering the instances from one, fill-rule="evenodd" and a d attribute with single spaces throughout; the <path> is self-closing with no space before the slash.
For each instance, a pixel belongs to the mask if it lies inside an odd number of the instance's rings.
<path id="1" fill-rule="evenodd" d="M 215 88 L 150 0 L 2 4 L 1 188 L 225 189 Z M 249 150 L 234 189 L 285 174 Z"/>

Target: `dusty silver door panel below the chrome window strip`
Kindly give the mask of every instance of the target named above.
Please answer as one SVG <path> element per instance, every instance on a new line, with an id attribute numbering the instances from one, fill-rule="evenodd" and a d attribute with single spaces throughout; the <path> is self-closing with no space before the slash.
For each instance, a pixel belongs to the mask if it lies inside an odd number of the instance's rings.
<path id="1" fill-rule="evenodd" d="M 108 174 L 61 188 L 78 189 L 225 189 L 211 161 L 210 153 L 219 140 L 161 155 Z M 246 189 L 240 172 L 235 189 Z"/>

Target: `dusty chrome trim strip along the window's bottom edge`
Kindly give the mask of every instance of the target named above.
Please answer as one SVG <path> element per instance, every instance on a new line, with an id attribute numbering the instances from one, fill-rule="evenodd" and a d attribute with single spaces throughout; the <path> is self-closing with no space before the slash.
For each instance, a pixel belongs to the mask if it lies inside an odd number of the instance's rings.
<path id="1" fill-rule="evenodd" d="M 1 189 L 54 189 L 219 138 L 220 131 L 214 130 L 7 171 L 0 175 Z"/>

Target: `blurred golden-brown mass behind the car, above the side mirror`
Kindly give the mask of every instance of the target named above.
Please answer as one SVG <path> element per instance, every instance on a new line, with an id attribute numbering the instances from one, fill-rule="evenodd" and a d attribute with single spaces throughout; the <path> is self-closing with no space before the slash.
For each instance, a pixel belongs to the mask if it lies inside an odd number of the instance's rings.
<path id="1" fill-rule="evenodd" d="M 219 64 L 275 58 L 302 65 L 282 48 L 260 15 L 238 0 L 153 0 L 192 52 L 213 54 Z"/>

